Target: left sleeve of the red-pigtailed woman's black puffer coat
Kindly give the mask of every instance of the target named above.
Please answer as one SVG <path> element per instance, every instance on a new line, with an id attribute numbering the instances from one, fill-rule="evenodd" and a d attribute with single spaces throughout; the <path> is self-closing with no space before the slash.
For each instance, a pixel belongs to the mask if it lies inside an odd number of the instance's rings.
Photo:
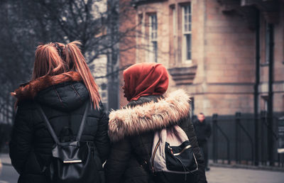
<path id="1" fill-rule="evenodd" d="M 12 128 L 10 157 L 13 167 L 21 174 L 25 167 L 28 155 L 32 149 L 33 126 L 31 122 L 32 111 L 24 106 L 18 106 Z"/>

